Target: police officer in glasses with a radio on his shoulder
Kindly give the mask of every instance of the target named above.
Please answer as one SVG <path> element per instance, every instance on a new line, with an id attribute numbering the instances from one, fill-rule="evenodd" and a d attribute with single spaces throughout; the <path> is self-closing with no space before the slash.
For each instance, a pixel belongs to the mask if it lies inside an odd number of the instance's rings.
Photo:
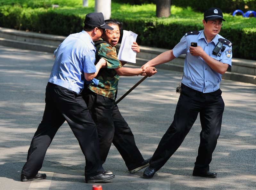
<path id="1" fill-rule="evenodd" d="M 143 69 L 154 67 L 186 54 L 174 120 L 162 137 L 150 165 L 144 171 L 145 178 L 152 178 L 178 149 L 198 113 L 202 131 L 193 176 L 217 176 L 217 173 L 209 171 L 209 164 L 219 137 L 224 111 L 219 83 L 221 75 L 231 67 L 232 58 L 232 44 L 219 35 L 222 21 L 225 20 L 219 8 L 208 9 L 202 21 L 203 30 L 188 32 L 173 50 L 163 52 L 142 66 Z M 197 47 L 192 47 L 195 43 Z M 216 53 L 216 50 L 220 51 Z"/>

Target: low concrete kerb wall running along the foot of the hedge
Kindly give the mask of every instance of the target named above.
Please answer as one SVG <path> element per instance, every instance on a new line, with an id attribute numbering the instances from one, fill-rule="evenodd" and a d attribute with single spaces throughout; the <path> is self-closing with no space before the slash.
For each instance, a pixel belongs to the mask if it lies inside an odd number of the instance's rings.
<path id="1" fill-rule="evenodd" d="M 19 49 L 53 53 L 65 38 L 65 36 L 0 28 L 0 45 Z M 119 48 L 120 44 L 117 47 Z M 142 66 L 164 51 L 167 51 L 167 49 L 140 46 L 140 53 L 136 57 L 136 65 Z M 184 59 L 185 55 L 181 55 L 168 63 L 158 65 L 156 68 L 183 72 Z M 232 58 L 232 67 L 228 68 L 222 78 L 256 84 L 256 61 Z"/>

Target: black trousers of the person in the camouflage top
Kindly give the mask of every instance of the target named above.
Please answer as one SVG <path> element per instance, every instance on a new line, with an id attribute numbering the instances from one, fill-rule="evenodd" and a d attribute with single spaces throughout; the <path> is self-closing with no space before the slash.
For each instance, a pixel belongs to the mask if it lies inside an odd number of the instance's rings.
<path id="1" fill-rule="evenodd" d="M 117 148 L 128 169 L 144 161 L 136 146 L 133 133 L 120 114 L 114 99 L 90 89 L 83 94 L 90 114 L 97 126 L 102 164 L 106 161 L 111 143 Z"/>

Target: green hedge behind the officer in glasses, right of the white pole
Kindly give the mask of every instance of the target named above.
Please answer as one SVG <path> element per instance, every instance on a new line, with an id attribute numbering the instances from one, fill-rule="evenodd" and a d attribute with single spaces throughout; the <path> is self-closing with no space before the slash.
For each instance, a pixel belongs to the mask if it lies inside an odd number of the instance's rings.
<path id="1" fill-rule="evenodd" d="M 203 29 L 203 13 L 194 12 L 190 7 L 182 9 L 172 6 L 172 15 L 169 18 L 156 18 L 155 5 L 144 5 L 143 10 L 141 7 L 119 5 L 112 11 L 111 16 L 123 22 L 124 29 L 138 34 L 137 42 L 141 45 L 172 49 L 186 32 Z M 219 34 L 233 43 L 233 56 L 256 60 L 256 53 L 253 51 L 256 41 L 256 18 L 233 17 L 226 13 L 224 18 L 227 21 L 223 22 L 224 26 Z"/>

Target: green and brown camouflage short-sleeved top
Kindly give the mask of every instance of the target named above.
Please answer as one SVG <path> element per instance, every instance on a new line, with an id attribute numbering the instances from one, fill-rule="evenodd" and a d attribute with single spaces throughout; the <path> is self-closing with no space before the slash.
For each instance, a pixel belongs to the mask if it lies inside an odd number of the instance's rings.
<path id="1" fill-rule="evenodd" d="M 104 40 L 100 38 L 99 40 Z M 117 91 L 117 85 L 119 81 L 119 75 L 114 68 L 122 67 L 121 62 L 117 59 L 117 51 L 115 47 L 107 43 L 101 43 L 96 46 L 96 61 L 100 58 L 104 58 L 107 61 L 107 68 L 101 68 L 95 79 L 99 80 L 98 85 L 95 87 L 94 83 L 89 86 L 91 91 L 102 96 L 115 99 L 115 93 Z"/>

